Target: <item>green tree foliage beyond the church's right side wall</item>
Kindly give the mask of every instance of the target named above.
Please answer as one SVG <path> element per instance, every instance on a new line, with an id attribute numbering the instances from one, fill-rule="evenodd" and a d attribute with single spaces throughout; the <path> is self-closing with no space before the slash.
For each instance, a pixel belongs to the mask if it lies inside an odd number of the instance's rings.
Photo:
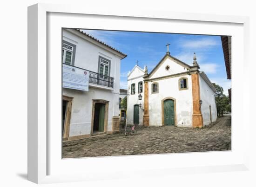
<path id="1" fill-rule="evenodd" d="M 217 90 L 215 93 L 217 115 L 223 116 L 224 112 L 231 112 L 229 97 L 223 93 L 223 88 L 220 85 L 215 83 L 213 85 Z"/>

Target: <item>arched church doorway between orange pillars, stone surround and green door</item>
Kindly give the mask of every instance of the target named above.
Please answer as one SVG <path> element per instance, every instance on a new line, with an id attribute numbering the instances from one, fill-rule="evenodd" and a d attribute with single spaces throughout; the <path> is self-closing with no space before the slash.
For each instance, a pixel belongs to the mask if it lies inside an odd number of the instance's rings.
<path id="1" fill-rule="evenodd" d="M 162 100 L 162 125 L 176 125 L 176 101 L 172 97 L 166 97 Z"/>

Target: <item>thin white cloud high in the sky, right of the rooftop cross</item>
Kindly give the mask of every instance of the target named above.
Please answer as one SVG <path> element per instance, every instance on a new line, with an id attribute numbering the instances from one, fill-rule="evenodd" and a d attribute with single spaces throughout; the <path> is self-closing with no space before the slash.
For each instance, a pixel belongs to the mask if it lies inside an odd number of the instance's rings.
<path id="1" fill-rule="evenodd" d="M 198 40 L 183 40 L 180 44 L 183 48 L 189 49 L 206 49 L 209 47 L 219 45 L 219 43 L 215 39 L 211 38 L 201 38 Z"/>

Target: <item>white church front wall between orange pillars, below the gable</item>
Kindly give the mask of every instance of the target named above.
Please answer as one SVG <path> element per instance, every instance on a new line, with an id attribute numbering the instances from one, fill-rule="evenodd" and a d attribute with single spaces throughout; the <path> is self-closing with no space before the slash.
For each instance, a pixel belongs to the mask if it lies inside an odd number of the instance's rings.
<path id="1" fill-rule="evenodd" d="M 179 78 L 188 78 L 188 90 L 179 90 Z M 159 93 L 152 93 L 151 85 L 157 82 Z M 162 126 L 162 100 L 173 97 L 176 100 L 176 122 L 178 127 L 192 127 L 193 98 L 191 76 L 180 76 L 148 83 L 149 125 Z"/>

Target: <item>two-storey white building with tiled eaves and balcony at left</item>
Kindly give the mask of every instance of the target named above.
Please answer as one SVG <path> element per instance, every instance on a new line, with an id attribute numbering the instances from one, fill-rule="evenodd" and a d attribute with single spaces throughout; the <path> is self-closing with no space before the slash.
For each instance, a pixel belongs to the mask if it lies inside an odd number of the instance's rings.
<path id="1" fill-rule="evenodd" d="M 127 55 L 77 29 L 62 30 L 62 63 L 88 72 L 88 91 L 62 89 L 64 140 L 119 129 L 121 59 Z"/>

